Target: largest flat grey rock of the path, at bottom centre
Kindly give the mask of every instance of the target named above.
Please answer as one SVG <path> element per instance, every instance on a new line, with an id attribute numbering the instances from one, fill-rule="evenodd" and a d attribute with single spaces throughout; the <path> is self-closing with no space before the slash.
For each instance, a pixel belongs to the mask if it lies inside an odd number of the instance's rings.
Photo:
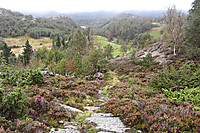
<path id="1" fill-rule="evenodd" d="M 119 117 L 113 117 L 113 115 L 109 113 L 95 113 L 91 115 L 91 117 L 86 118 L 86 120 L 96 123 L 96 128 L 103 131 L 124 133 L 126 130 L 130 129 L 124 126 Z"/>

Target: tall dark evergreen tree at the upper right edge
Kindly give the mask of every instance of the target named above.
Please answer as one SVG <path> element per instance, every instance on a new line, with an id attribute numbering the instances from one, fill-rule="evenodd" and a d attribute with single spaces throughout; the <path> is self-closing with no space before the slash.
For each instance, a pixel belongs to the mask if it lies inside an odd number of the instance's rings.
<path id="1" fill-rule="evenodd" d="M 200 0 L 192 3 L 189 11 L 188 25 L 186 28 L 187 41 L 197 48 L 200 48 Z"/>

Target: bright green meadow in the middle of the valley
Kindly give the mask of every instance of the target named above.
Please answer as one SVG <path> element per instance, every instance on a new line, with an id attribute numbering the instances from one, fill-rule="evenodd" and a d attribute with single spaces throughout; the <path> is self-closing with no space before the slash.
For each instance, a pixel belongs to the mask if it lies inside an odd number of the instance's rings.
<path id="1" fill-rule="evenodd" d="M 108 44 L 110 44 L 111 46 L 113 46 L 114 48 L 114 52 L 113 52 L 113 56 L 120 56 L 123 53 L 120 51 L 120 45 L 113 43 L 113 42 L 109 42 L 108 39 L 106 37 L 102 37 L 102 36 L 93 36 L 94 38 L 94 46 L 95 47 L 105 47 Z"/>

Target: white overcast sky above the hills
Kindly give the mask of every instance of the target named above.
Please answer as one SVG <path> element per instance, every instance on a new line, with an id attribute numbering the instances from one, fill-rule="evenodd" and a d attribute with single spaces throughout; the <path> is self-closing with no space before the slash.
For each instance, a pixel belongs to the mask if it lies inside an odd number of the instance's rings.
<path id="1" fill-rule="evenodd" d="M 189 10 L 194 0 L 0 0 L 0 7 L 12 11 L 46 12 L 57 11 L 126 11 L 166 10 L 176 5 L 178 10 Z"/>

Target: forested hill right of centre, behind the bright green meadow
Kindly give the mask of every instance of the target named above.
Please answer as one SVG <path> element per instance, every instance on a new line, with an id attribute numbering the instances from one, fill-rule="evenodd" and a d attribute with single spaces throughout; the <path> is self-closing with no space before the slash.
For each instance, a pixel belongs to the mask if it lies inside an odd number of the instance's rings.
<path id="1" fill-rule="evenodd" d="M 107 37 L 109 41 L 115 38 L 124 41 L 133 40 L 135 34 L 144 33 L 151 29 L 151 19 L 135 17 L 130 14 L 120 14 L 112 21 L 105 21 L 98 28 L 99 34 Z"/>

